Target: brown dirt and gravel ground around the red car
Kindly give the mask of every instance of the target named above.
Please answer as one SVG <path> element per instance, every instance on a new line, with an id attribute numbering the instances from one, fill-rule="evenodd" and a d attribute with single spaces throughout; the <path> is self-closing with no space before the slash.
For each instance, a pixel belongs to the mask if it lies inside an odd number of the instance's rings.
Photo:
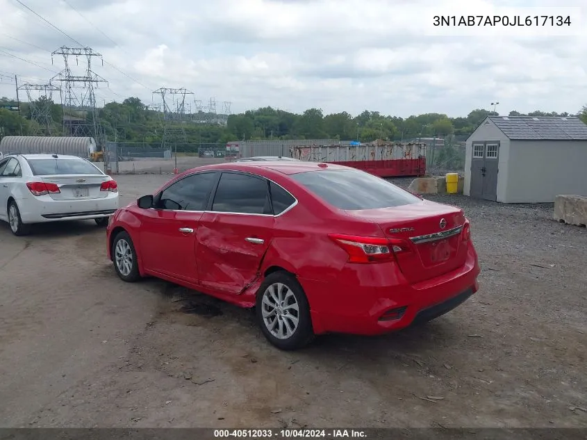
<path id="1" fill-rule="evenodd" d="M 170 176 L 116 178 L 130 202 Z M 481 290 L 424 327 L 299 352 L 250 311 L 119 281 L 94 222 L 0 225 L 0 425 L 587 427 L 587 230 L 552 205 L 430 198 L 472 221 Z"/>

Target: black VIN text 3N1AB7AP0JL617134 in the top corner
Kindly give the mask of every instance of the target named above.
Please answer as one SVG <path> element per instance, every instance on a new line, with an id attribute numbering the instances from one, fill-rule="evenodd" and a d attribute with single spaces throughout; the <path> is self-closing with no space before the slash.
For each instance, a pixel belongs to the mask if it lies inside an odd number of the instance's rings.
<path id="1" fill-rule="evenodd" d="M 567 15 L 435 15 L 434 26 L 570 26 Z"/>

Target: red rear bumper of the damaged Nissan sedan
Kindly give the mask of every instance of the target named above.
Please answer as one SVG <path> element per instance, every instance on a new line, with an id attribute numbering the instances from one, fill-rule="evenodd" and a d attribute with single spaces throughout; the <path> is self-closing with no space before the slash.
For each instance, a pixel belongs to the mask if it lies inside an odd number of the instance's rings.
<path id="1" fill-rule="evenodd" d="M 316 334 L 377 335 L 422 323 L 451 311 L 479 290 L 477 254 L 440 277 L 386 287 L 333 285 L 300 279 Z"/>

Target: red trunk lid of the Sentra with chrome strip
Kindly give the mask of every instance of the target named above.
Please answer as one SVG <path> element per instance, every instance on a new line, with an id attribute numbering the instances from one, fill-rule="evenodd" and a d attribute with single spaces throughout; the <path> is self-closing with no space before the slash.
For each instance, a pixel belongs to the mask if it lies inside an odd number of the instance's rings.
<path id="1" fill-rule="evenodd" d="M 423 200 L 346 212 L 381 227 L 408 282 L 438 277 L 465 263 L 467 249 L 461 232 L 466 220 L 461 209 Z"/>

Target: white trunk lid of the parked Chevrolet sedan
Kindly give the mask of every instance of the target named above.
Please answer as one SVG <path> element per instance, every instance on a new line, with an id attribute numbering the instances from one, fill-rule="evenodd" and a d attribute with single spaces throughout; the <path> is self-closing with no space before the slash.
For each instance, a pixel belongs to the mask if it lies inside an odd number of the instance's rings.
<path id="1" fill-rule="evenodd" d="M 55 184 L 59 193 L 49 193 L 53 200 L 102 199 L 108 191 L 101 191 L 102 182 L 110 180 L 104 174 L 51 174 L 38 176 L 45 184 Z"/>

